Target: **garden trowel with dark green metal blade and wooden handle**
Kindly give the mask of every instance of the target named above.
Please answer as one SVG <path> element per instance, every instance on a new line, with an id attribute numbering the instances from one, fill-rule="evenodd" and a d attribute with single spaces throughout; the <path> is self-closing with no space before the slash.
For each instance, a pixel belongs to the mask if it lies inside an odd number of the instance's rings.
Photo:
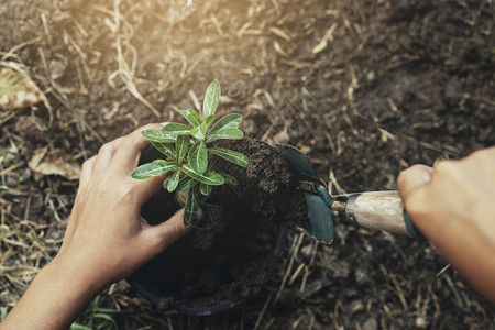
<path id="1" fill-rule="evenodd" d="M 334 200 L 301 151 L 288 144 L 277 144 L 277 148 L 299 174 L 298 188 L 304 193 L 308 208 L 308 221 L 296 223 L 297 230 L 330 244 L 336 237 L 333 210 L 345 213 L 349 220 L 365 228 L 420 237 L 397 190 L 354 194 L 345 202 Z"/>

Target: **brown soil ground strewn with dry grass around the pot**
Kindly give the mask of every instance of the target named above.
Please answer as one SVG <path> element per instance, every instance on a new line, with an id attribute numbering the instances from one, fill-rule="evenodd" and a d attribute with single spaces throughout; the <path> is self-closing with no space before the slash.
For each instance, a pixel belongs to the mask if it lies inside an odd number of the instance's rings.
<path id="1" fill-rule="evenodd" d="M 29 68 L 54 121 L 44 106 L 1 114 L 1 311 L 56 253 L 77 187 L 30 169 L 36 150 L 80 164 L 177 120 L 217 77 L 220 111 L 243 113 L 251 138 L 288 136 L 333 194 L 391 189 L 411 164 L 494 144 L 494 13 L 488 0 L 3 0 L 0 51 L 15 56 L 2 61 Z M 123 283 L 98 304 L 122 329 L 493 329 L 493 307 L 428 242 L 337 228 L 331 246 L 292 232 L 278 275 L 222 315 L 162 317 Z"/>

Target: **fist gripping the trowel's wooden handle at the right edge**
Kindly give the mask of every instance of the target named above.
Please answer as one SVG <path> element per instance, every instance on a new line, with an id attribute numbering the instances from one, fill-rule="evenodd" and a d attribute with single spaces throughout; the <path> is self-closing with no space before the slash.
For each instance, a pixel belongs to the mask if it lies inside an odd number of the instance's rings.
<path id="1" fill-rule="evenodd" d="M 495 302 L 495 147 L 397 178 L 407 212 L 439 252 Z"/>

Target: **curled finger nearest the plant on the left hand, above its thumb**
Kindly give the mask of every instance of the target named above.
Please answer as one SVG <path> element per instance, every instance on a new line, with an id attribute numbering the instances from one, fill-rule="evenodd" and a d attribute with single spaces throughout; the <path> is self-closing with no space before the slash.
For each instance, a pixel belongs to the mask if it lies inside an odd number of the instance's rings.
<path id="1" fill-rule="evenodd" d="M 141 132 L 150 129 L 161 130 L 162 125 L 158 123 L 147 124 L 123 138 L 110 164 L 112 170 L 125 176 L 131 174 L 138 166 L 141 151 L 150 144 L 150 141 Z"/>

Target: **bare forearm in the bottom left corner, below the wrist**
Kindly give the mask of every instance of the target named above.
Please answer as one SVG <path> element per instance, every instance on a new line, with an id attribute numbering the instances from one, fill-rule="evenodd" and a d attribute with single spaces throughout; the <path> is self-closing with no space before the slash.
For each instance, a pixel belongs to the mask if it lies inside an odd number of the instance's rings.
<path id="1" fill-rule="evenodd" d="M 103 289 L 94 284 L 84 267 L 55 258 L 34 278 L 0 328 L 67 329 Z"/>

